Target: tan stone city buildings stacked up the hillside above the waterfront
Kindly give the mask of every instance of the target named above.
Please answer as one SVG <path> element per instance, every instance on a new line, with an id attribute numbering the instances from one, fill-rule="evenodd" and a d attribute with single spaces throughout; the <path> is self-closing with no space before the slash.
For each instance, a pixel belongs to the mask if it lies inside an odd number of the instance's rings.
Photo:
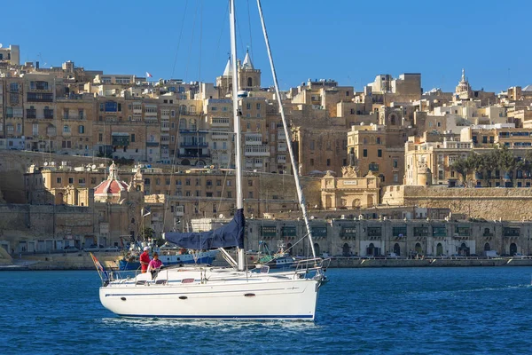
<path id="1" fill-rule="evenodd" d="M 178 220 L 231 215 L 235 193 L 229 94 L 234 88 L 229 62 L 214 83 L 147 82 L 136 75 L 85 70 L 73 61 L 52 68 L 20 64 L 17 46 L 0 50 L 0 55 L 0 149 L 40 152 L 43 160 L 28 167 L 22 195 L 8 193 L 17 184 L 0 181 L 0 190 L 10 203 L 65 205 L 85 214 L 76 233 L 68 232 L 67 219 L 59 234 L 54 229 L 54 248 L 65 240 L 116 245 L 122 235 L 137 235 L 145 206 L 153 210 L 146 223 L 156 233 L 183 229 Z M 465 213 L 453 205 L 457 189 L 451 187 L 501 186 L 520 188 L 516 196 L 528 193 L 523 188 L 532 183 L 532 171 L 520 162 L 532 152 L 531 86 L 497 93 L 476 90 L 464 70 L 449 92 L 424 91 L 419 73 L 376 75 L 363 91 L 332 79 L 309 79 L 281 93 L 291 130 L 286 137 L 275 93 L 262 87 L 262 71 L 250 52 L 239 60 L 238 70 L 238 90 L 246 91 L 239 100 L 246 213 L 255 218 L 284 216 L 297 208 L 295 196 L 287 193 L 291 183 L 285 182 L 291 173 L 305 177 L 307 201 L 316 213 L 347 210 L 356 215 L 364 209 L 410 210 L 412 205 L 439 203 L 437 209 L 491 218 L 497 216 L 492 207 L 468 206 Z M 295 172 L 288 144 L 294 148 Z M 460 178 L 455 162 L 496 145 L 511 152 L 513 163 L 477 166 Z M 121 180 L 111 170 L 107 174 L 105 165 L 96 170 L 70 166 L 72 155 L 121 162 L 123 167 L 116 169 L 127 178 Z M 135 170 L 129 164 L 136 164 Z M 100 191 L 113 184 L 119 186 L 116 191 Z M 428 191 L 442 195 L 432 201 Z M 489 199 L 502 201 L 503 196 L 494 193 Z M 370 212 L 364 216 L 383 217 Z M 500 246 L 510 248 L 504 242 Z M 364 248 L 369 250 L 369 244 Z M 358 250 L 364 248 L 359 245 Z M 467 248 L 475 249 L 462 249 Z"/>

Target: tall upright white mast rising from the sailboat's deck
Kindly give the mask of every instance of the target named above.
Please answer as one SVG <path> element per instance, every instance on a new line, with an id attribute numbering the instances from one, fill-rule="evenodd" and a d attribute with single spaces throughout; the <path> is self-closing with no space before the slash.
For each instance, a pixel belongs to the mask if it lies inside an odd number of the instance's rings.
<path id="1" fill-rule="evenodd" d="M 237 209 L 244 208 L 242 198 L 242 150 L 240 141 L 240 115 L 239 115 L 239 78 L 237 69 L 237 35 L 236 35 L 236 17 L 235 2 L 229 0 L 229 26 L 231 29 L 231 66 L 232 66 L 232 103 L 234 119 L 234 139 L 235 139 L 235 167 L 236 167 L 236 187 L 237 187 Z M 237 248 L 238 268 L 243 271 L 245 267 L 244 249 Z"/>

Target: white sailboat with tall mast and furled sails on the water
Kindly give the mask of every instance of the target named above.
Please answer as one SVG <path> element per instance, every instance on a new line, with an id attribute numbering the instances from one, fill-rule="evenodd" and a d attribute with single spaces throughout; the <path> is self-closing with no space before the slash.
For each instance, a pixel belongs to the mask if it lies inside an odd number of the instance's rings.
<path id="1" fill-rule="evenodd" d="M 262 17 L 260 0 L 257 0 L 262 20 L 262 30 L 270 57 L 279 109 L 288 128 L 280 101 L 277 76 L 271 58 L 270 43 Z M 292 270 L 270 272 L 268 265 L 249 270 L 245 264 L 245 216 L 242 197 L 242 158 L 239 116 L 239 91 L 235 32 L 234 0 L 229 0 L 231 27 L 232 104 L 236 155 L 236 212 L 227 225 L 204 233 L 164 233 L 163 238 L 182 248 L 196 250 L 219 249 L 229 267 L 210 265 L 183 265 L 162 269 L 157 273 L 137 273 L 135 277 L 121 278 L 119 272 L 98 272 L 103 278 L 99 288 L 101 303 L 122 317 L 169 319 L 297 319 L 314 320 L 317 296 L 325 283 L 323 260 L 316 256 L 309 228 L 309 219 L 303 199 L 301 184 L 293 158 L 293 177 L 305 219 L 313 257 L 301 260 Z M 225 248 L 237 248 L 234 260 Z M 98 269 L 98 267 L 97 267 Z"/>

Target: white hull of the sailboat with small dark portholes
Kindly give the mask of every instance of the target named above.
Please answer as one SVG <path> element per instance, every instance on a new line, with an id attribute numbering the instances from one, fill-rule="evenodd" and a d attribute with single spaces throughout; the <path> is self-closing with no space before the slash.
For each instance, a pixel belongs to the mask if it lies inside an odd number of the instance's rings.
<path id="1" fill-rule="evenodd" d="M 302 279 L 295 272 L 262 274 L 227 269 L 214 272 L 213 268 L 202 272 L 180 268 L 161 271 L 155 280 L 148 280 L 150 274 L 139 274 L 136 279 L 111 281 L 100 288 L 100 301 L 109 311 L 123 317 L 302 320 L 315 317 L 319 278 Z"/>

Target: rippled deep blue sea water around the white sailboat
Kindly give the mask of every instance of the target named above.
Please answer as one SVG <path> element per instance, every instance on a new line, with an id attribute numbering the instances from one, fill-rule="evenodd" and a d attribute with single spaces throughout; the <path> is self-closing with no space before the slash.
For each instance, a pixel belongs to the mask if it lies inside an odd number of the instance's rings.
<path id="1" fill-rule="evenodd" d="M 529 354 L 532 267 L 329 269 L 315 322 L 121 319 L 96 272 L 0 272 L 0 354 Z"/>

